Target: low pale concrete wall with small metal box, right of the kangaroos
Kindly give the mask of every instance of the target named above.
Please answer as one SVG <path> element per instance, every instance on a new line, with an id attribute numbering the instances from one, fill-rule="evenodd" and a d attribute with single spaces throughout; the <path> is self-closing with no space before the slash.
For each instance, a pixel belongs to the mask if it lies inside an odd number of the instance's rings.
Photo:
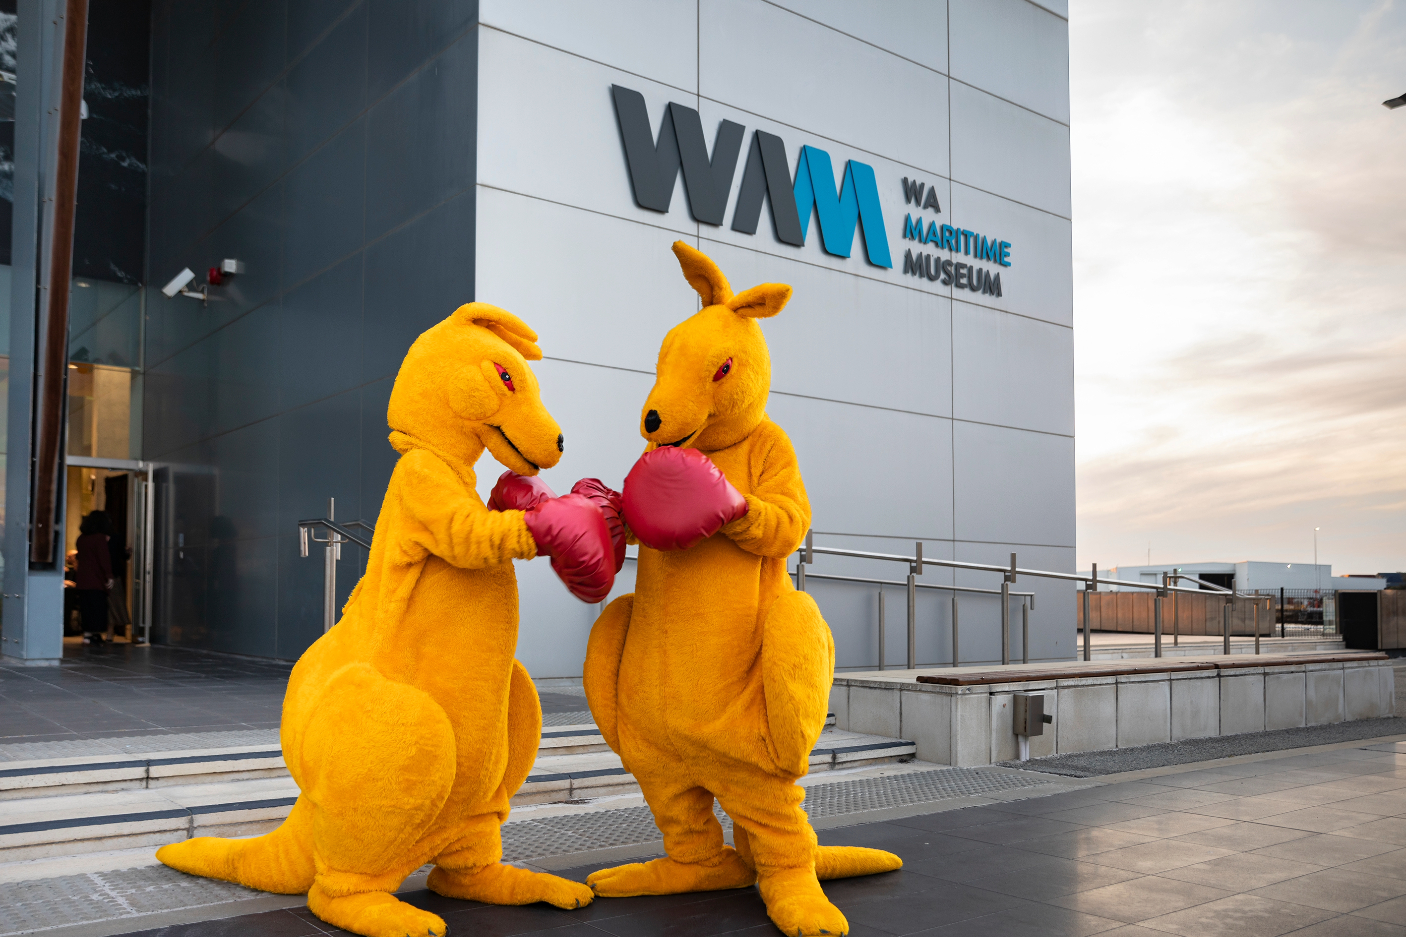
<path id="1" fill-rule="evenodd" d="M 1391 716 L 1396 687 L 1389 664 L 1281 660 L 973 687 L 920 684 L 920 671 L 844 674 L 835 678 L 830 706 L 841 729 L 907 739 L 922 761 L 980 765 L 1015 757 L 1017 692 L 1043 694 L 1045 712 L 1054 716 L 1043 736 L 1031 739 L 1031 757 L 1038 758 Z"/>

